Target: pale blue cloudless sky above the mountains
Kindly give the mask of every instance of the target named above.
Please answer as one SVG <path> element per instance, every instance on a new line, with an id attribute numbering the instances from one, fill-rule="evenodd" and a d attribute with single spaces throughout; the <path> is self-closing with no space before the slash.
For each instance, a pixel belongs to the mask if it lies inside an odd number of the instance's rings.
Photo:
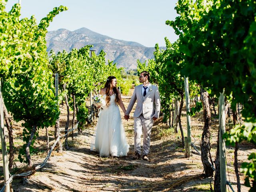
<path id="1" fill-rule="evenodd" d="M 165 24 L 174 20 L 176 0 L 21 0 L 21 18 L 35 15 L 38 22 L 52 8 L 60 5 L 68 10 L 54 18 L 48 30 L 71 31 L 86 27 L 112 38 L 138 42 L 147 47 L 165 46 L 164 37 L 177 40 L 174 30 Z M 8 0 L 9 11 L 18 0 Z"/>

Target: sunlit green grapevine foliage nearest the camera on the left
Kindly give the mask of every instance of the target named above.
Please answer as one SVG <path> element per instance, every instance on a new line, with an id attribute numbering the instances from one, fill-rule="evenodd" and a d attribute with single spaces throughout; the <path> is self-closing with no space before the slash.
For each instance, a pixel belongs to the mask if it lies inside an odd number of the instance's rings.
<path id="1" fill-rule="evenodd" d="M 3 98 L 14 120 L 24 121 L 23 140 L 28 143 L 33 126 L 51 126 L 59 116 L 54 80 L 52 72 L 47 68 L 45 36 L 46 28 L 54 16 L 67 8 L 54 8 L 37 25 L 33 16 L 30 19 L 19 19 L 19 4 L 15 4 L 10 12 L 5 11 L 5 4 L 6 1 L 1 1 L 0 75 L 3 78 Z M 26 144 L 20 150 L 21 161 L 25 147 Z"/>

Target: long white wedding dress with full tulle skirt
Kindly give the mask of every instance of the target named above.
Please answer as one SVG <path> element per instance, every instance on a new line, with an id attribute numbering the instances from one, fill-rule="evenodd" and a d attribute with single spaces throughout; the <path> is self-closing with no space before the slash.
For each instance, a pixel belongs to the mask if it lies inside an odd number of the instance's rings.
<path id="1" fill-rule="evenodd" d="M 103 95 L 106 98 L 106 94 Z M 127 156 L 129 145 L 126 142 L 121 114 L 115 103 L 116 96 L 110 96 L 110 106 L 103 106 L 99 114 L 95 133 L 92 137 L 90 150 L 100 153 L 100 156 Z"/>

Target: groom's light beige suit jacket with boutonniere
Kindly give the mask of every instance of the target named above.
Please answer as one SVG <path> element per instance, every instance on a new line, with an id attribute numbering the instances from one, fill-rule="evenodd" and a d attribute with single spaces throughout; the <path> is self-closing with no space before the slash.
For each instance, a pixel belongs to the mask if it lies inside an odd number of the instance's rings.
<path id="1" fill-rule="evenodd" d="M 137 100 L 134 118 L 138 118 L 142 113 L 145 119 L 158 118 L 160 113 L 160 94 L 157 86 L 151 85 L 146 96 L 142 96 L 142 84 L 135 87 L 132 98 L 126 110 L 129 115 L 134 103 Z M 155 105 L 154 105 L 155 104 Z"/>

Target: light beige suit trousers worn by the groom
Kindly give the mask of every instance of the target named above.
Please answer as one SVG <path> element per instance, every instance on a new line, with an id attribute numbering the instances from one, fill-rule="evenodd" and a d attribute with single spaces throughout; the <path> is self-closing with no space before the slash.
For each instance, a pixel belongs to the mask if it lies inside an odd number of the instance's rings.
<path id="1" fill-rule="evenodd" d="M 153 119 L 145 119 L 141 114 L 138 118 L 134 118 L 134 152 L 145 155 L 149 152 L 150 134 L 153 126 Z M 143 129 L 143 147 L 141 152 L 141 134 Z"/>

